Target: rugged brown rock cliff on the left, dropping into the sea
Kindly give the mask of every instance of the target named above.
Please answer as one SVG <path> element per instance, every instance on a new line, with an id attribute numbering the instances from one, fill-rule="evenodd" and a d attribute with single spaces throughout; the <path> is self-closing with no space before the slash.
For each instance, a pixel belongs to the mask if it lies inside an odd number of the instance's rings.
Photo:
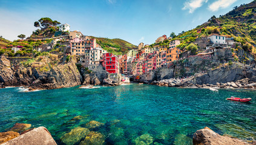
<path id="1" fill-rule="evenodd" d="M 31 89 L 56 89 L 81 84 L 80 73 L 76 67 L 76 60 L 68 63 L 51 65 L 43 61 L 33 62 L 29 66 L 21 63 L 10 63 L 0 56 L 0 84 L 4 86 L 30 86 Z M 47 66 L 47 69 L 42 69 Z"/>

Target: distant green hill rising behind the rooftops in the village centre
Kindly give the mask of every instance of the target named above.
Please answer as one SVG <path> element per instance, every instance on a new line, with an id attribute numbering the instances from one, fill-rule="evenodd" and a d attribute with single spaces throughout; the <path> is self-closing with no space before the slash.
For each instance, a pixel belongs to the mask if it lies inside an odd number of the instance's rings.
<path id="1" fill-rule="evenodd" d="M 93 37 L 93 36 L 91 36 Z M 137 46 L 122 39 L 108 39 L 103 37 L 93 37 L 97 39 L 97 43 L 110 53 L 121 55 L 128 53 L 129 50 L 136 49 Z"/>

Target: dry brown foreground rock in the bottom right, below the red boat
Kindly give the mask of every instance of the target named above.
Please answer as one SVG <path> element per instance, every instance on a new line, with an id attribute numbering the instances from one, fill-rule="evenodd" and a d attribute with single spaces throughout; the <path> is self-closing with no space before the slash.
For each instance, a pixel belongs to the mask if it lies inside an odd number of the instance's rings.
<path id="1" fill-rule="evenodd" d="M 243 145 L 248 144 L 242 140 L 238 140 L 235 138 L 225 137 L 219 135 L 205 127 L 204 129 L 197 130 L 193 135 L 193 144 L 194 145 Z"/>

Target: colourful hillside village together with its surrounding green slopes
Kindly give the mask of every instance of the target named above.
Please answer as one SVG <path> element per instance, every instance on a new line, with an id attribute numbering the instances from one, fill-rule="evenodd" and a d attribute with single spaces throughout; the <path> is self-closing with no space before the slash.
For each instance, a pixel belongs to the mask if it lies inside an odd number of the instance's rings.
<path id="1" fill-rule="evenodd" d="M 177 62 L 186 62 L 192 57 L 200 57 L 203 60 L 212 60 L 215 57 L 218 59 L 215 68 L 222 64 L 232 65 L 233 62 L 250 64 L 256 54 L 253 26 L 255 8 L 253 1 L 235 7 L 219 18 L 212 16 L 208 22 L 193 30 L 183 31 L 177 36 L 174 33 L 169 37 L 163 35 L 151 45 L 141 42 L 137 47 L 121 39 L 86 36 L 80 31 L 71 31 L 69 24 L 41 18 L 34 24 L 41 29 L 33 31 L 25 40 L 25 36 L 20 36 L 21 39 L 13 42 L 2 40 L 0 54 L 10 59 L 27 59 L 27 62 L 33 62 L 36 56 L 57 54 L 63 56 L 64 62 L 76 58 L 79 69 L 97 72 L 101 67 L 110 74 L 123 74 L 134 79 L 140 79 L 144 74 L 162 68 L 176 69 Z M 230 54 L 219 58 L 220 50 L 228 50 Z M 49 69 L 50 67 L 45 70 Z M 199 69 L 185 73 L 186 69 L 189 68 L 185 66 L 176 69 L 177 73 L 172 77 L 188 77 L 205 71 Z"/>

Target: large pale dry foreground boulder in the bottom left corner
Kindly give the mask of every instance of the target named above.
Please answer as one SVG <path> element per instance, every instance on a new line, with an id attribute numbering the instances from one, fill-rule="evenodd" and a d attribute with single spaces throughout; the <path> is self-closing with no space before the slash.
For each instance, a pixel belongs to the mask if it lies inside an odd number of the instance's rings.
<path id="1" fill-rule="evenodd" d="M 56 145 L 50 132 L 45 127 L 38 127 L 19 137 L 13 138 L 2 145 Z"/>

